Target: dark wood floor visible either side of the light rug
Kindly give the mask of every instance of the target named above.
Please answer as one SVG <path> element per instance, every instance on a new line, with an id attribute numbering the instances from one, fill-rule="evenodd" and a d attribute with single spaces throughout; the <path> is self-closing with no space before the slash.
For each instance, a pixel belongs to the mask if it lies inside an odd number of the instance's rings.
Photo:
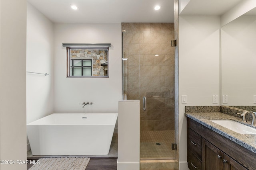
<path id="1" fill-rule="evenodd" d="M 30 159 L 28 159 L 30 160 Z M 38 160 L 38 159 L 31 159 Z M 117 158 L 90 158 L 86 170 L 116 170 Z M 27 165 L 27 170 L 33 166 L 32 164 Z"/>

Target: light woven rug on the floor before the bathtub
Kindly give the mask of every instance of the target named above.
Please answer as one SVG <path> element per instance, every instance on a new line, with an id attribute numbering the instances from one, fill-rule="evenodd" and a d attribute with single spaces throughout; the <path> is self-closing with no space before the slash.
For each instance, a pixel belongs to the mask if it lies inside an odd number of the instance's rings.
<path id="1" fill-rule="evenodd" d="M 90 158 L 40 158 L 29 170 L 85 170 Z"/>

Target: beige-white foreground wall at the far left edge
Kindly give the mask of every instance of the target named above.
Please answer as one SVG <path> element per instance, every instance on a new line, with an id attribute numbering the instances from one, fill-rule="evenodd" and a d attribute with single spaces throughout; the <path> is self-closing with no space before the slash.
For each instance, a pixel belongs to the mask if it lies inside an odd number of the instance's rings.
<path id="1" fill-rule="evenodd" d="M 0 160 L 26 160 L 26 0 L 0 0 Z"/>

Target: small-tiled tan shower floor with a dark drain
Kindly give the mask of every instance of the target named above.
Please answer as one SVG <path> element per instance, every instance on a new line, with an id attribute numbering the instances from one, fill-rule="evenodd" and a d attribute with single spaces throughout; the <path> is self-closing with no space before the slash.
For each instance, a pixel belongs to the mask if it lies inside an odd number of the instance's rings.
<path id="1" fill-rule="evenodd" d="M 174 133 L 175 131 L 140 131 L 140 159 L 176 159 L 176 150 L 172 150 Z"/>

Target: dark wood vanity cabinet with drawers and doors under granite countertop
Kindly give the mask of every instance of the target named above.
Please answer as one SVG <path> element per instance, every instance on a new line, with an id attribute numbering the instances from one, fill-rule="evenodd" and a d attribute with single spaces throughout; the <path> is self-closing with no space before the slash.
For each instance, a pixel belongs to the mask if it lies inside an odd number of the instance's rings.
<path id="1" fill-rule="evenodd" d="M 256 154 L 187 118 L 190 170 L 256 170 Z"/>

